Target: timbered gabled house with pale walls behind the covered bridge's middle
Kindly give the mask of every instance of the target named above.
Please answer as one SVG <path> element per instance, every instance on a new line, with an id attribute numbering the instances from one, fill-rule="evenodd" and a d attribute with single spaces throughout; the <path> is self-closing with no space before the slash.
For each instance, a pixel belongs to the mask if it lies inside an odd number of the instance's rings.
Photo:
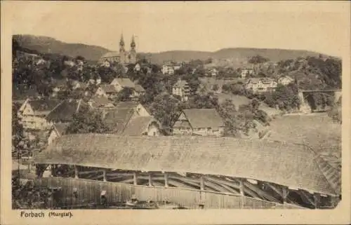
<path id="1" fill-rule="evenodd" d="M 216 109 L 184 109 L 173 125 L 173 135 L 224 135 L 224 123 Z"/>

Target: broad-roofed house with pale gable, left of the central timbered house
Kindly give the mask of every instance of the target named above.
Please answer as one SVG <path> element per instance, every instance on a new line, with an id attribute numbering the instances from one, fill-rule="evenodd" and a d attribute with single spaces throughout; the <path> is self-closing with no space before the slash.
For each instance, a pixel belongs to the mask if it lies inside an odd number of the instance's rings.
<path id="1" fill-rule="evenodd" d="M 102 119 L 117 135 L 161 135 L 161 123 L 138 102 L 119 102 L 113 109 L 104 110 Z"/>

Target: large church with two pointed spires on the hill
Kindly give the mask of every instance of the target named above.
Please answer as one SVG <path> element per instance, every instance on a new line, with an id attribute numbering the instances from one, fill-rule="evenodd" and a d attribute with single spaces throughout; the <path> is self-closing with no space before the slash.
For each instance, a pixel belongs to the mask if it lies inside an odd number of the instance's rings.
<path id="1" fill-rule="evenodd" d="M 121 34 L 121 40 L 119 41 L 119 52 L 110 52 L 102 55 L 100 62 L 118 62 L 120 64 L 135 64 L 136 62 L 136 50 L 135 50 L 134 35 L 131 39 L 131 50 L 126 51 L 124 48 L 123 34 Z"/>

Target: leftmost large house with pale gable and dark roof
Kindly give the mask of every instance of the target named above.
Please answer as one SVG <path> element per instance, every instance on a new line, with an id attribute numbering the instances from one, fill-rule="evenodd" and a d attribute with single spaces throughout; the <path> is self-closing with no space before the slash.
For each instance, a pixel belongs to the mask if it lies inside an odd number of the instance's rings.
<path id="1" fill-rule="evenodd" d="M 21 117 L 23 128 L 30 130 L 46 130 L 52 123 L 46 116 L 60 104 L 58 100 L 29 100 L 20 107 L 18 114 Z"/>

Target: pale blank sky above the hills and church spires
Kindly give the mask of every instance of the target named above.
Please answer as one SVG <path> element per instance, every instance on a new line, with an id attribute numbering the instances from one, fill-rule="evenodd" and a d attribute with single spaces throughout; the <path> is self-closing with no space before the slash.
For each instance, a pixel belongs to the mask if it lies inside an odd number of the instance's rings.
<path id="1" fill-rule="evenodd" d="M 136 36 L 139 52 L 284 48 L 342 55 L 350 3 L 331 1 L 12 2 L 13 34 L 51 36 L 118 50 Z M 348 48 L 348 46 L 347 46 Z"/>

